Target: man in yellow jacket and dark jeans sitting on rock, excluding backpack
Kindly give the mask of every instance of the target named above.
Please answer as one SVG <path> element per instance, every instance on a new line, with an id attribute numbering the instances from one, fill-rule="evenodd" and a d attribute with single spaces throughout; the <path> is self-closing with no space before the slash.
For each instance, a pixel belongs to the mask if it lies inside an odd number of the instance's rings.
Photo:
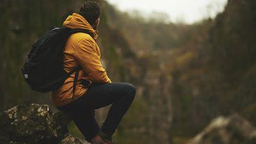
<path id="1" fill-rule="evenodd" d="M 68 16 L 63 26 L 90 32 L 71 35 L 64 49 L 63 68 L 70 72 L 78 65 L 76 91 L 73 95 L 75 74 L 63 86 L 52 92 L 56 107 L 74 120 L 86 140 L 97 144 L 111 144 L 112 135 L 134 100 L 136 90 L 129 83 L 111 83 L 100 63 L 100 49 L 95 40 L 100 22 L 100 4 L 86 1 L 79 13 Z M 84 84 L 87 82 L 87 84 Z M 88 86 L 89 84 L 89 86 Z M 94 109 L 112 104 L 100 128 L 93 115 Z"/>

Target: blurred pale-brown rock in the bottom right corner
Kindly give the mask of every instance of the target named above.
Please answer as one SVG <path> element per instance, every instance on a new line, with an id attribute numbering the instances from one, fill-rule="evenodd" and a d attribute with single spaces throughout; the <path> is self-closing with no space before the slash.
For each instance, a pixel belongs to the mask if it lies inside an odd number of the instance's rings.
<path id="1" fill-rule="evenodd" d="M 212 120 L 188 144 L 255 144 L 256 130 L 238 114 Z"/>

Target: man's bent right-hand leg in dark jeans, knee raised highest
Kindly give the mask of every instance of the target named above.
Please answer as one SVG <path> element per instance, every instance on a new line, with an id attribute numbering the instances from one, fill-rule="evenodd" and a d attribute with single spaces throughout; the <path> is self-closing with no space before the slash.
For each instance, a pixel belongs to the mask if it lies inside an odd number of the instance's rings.
<path id="1" fill-rule="evenodd" d="M 112 104 L 101 131 L 110 137 L 131 106 L 136 89 L 129 83 L 92 84 L 77 106 L 99 109 Z"/>

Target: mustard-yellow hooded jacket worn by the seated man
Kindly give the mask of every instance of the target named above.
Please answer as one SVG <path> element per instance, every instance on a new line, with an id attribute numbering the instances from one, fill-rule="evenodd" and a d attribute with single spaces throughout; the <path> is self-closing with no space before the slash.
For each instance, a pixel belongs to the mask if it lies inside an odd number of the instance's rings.
<path id="1" fill-rule="evenodd" d="M 84 17 L 78 13 L 68 16 L 63 26 L 71 29 L 86 29 L 93 33 L 90 36 L 86 33 L 75 33 L 71 35 L 64 49 L 63 68 L 66 72 L 70 72 L 77 65 L 82 67 L 76 83 L 76 92 L 73 100 L 81 97 L 87 90 L 81 79 L 86 79 L 90 83 L 111 83 L 107 76 L 106 70 L 100 63 L 100 49 L 95 40 L 97 39 L 97 31 L 87 22 Z M 65 80 L 63 86 L 52 92 L 52 100 L 55 106 L 64 106 L 71 102 L 73 95 L 73 82 L 75 73 Z"/>

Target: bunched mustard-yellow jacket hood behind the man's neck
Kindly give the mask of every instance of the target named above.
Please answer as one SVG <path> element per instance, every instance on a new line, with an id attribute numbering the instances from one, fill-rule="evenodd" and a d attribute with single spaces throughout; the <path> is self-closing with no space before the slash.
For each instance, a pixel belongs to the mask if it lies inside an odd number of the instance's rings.
<path id="1" fill-rule="evenodd" d="M 73 13 L 72 15 L 69 15 L 67 19 L 63 22 L 63 26 L 70 29 L 84 29 L 86 31 L 89 31 L 90 33 L 92 33 L 93 39 L 95 40 L 98 37 L 97 31 L 94 30 L 89 22 L 78 13 Z"/>

